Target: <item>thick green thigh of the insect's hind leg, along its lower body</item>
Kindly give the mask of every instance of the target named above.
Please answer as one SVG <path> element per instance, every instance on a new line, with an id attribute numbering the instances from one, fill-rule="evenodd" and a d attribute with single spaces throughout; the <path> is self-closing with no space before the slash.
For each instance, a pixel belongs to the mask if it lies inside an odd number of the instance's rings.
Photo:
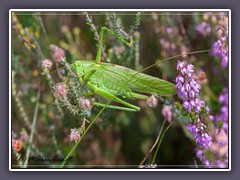
<path id="1" fill-rule="evenodd" d="M 127 107 L 133 108 L 133 109 L 135 109 L 136 111 L 140 111 L 140 109 L 141 109 L 140 107 L 134 106 L 134 105 L 132 105 L 132 104 L 130 104 L 130 103 L 128 103 L 128 102 L 126 102 L 126 101 L 124 101 L 124 100 L 116 97 L 115 95 L 107 92 L 106 90 L 101 89 L 101 88 L 93 85 L 93 84 L 90 83 L 90 82 L 88 82 L 88 87 L 89 87 L 90 89 L 92 89 L 95 93 L 97 93 L 97 94 L 99 94 L 99 95 L 101 95 L 101 96 L 103 96 L 103 97 L 105 97 L 105 98 L 112 99 L 113 101 L 118 102 L 118 103 L 120 103 L 120 104 L 123 104 L 123 105 L 125 105 L 125 106 L 127 106 Z"/>

